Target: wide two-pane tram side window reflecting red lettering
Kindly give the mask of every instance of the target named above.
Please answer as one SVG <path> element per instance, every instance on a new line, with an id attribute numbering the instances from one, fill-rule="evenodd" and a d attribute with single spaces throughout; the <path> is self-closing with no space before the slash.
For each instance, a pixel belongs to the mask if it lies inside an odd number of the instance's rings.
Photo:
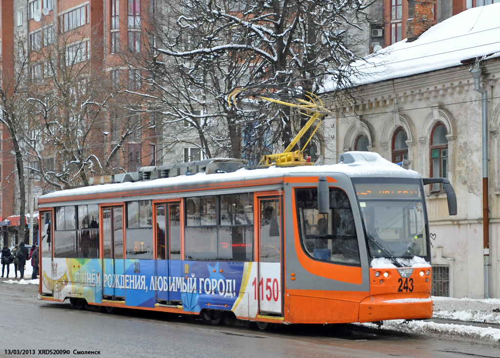
<path id="1" fill-rule="evenodd" d="M 185 199 L 186 260 L 253 260 L 253 194 Z"/>

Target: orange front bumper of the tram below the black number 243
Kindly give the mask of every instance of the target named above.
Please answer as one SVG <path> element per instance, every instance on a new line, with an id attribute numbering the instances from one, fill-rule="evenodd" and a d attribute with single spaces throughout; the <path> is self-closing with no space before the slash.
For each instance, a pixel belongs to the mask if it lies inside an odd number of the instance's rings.
<path id="1" fill-rule="evenodd" d="M 359 304 L 359 322 L 432 318 L 432 299 L 428 293 L 369 296 Z"/>

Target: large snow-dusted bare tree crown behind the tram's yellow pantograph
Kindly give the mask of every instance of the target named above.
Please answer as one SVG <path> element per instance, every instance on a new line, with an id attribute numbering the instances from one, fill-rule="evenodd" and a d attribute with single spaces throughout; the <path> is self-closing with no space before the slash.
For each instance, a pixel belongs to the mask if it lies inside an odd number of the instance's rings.
<path id="1" fill-rule="evenodd" d="M 228 93 L 251 85 L 315 92 L 326 75 L 345 85 L 343 68 L 356 58 L 345 40 L 365 20 L 368 2 L 176 0 L 168 6 L 147 27 L 154 48 L 142 62 L 151 89 L 147 101 L 169 128 L 187 121 L 207 156 L 238 157 L 252 138 L 286 145 L 296 130 L 287 108 L 236 108 Z M 179 125 L 169 133 L 175 137 L 185 129 Z"/>

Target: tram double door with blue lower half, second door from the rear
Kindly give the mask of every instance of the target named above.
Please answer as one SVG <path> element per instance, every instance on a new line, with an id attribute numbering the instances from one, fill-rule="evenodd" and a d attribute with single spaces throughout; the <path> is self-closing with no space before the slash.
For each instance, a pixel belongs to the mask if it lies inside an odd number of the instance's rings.
<path id="1" fill-rule="evenodd" d="M 123 288 L 120 275 L 124 274 L 123 260 L 123 207 L 107 206 L 102 212 L 102 295 L 104 298 L 123 298 Z"/>

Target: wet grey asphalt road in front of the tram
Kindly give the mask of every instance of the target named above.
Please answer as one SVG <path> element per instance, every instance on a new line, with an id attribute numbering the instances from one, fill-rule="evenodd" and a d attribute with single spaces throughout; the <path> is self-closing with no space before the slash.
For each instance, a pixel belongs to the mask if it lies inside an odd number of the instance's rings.
<path id="1" fill-rule="evenodd" d="M 251 330 L 244 322 L 212 326 L 194 317 L 37 300 L 36 286 L 0 282 L 0 357 L 497 357 L 493 344 L 370 330 L 356 325 Z M 8 318 L 8 319 L 5 319 Z M 29 350 L 17 355 L 8 350 Z M 7 350 L 7 351 L 5 351 Z M 68 355 L 39 350 L 66 350 Z M 75 354 L 98 351 L 100 354 Z"/>

